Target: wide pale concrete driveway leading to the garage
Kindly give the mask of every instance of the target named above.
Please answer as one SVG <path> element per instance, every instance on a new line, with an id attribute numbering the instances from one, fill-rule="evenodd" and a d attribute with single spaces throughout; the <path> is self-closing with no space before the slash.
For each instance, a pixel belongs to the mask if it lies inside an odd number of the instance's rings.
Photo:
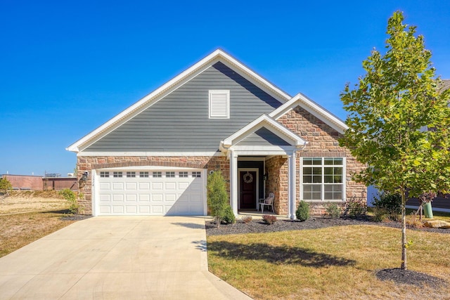
<path id="1" fill-rule="evenodd" d="M 203 217 L 78 221 L 0 259 L 0 299 L 250 299 L 208 272 Z"/>

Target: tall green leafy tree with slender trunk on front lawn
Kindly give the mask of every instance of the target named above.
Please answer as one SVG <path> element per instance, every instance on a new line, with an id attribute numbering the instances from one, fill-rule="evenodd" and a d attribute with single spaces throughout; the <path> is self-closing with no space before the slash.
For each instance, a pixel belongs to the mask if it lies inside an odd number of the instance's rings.
<path id="1" fill-rule="evenodd" d="M 401 195 L 401 269 L 406 270 L 405 205 L 421 193 L 450 188 L 449 91 L 438 92 L 416 27 L 404 25 L 397 11 L 387 23 L 386 53 L 373 50 L 363 62 L 366 74 L 340 98 L 349 113 L 349 129 L 340 139 L 367 168 L 356 181 Z"/>

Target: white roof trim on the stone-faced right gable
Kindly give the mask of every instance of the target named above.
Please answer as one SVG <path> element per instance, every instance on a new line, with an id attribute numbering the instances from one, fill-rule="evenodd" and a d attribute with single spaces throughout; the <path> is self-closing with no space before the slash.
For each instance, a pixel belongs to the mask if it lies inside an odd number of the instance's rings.
<path id="1" fill-rule="evenodd" d="M 348 129 L 348 126 L 344 122 L 342 122 L 341 119 L 328 112 L 328 110 L 324 109 L 313 100 L 307 98 L 307 96 L 304 96 L 302 93 L 297 93 L 297 95 L 295 95 L 288 102 L 284 103 L 276 110 L 271 112 L 269 116 L 273 117 L 274 119 L 279 119 L 290 110 L 293 110 L 293 108 L 297 105 L 302 107 L 304 110 L 307 110 L 307 112 L 309 112 L 311 115 L 314 115 L 314 117 L 321 119 L 325 124 L 335 129 L 335 131 L 338 131 L 339 133 L 344 133 L 344 131 Z"/>

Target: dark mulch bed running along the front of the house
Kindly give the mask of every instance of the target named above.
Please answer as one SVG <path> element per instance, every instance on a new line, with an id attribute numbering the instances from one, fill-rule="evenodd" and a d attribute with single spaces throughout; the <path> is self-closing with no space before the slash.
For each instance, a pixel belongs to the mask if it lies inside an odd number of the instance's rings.
<path id="1" fill-rule="evenodd" d="M 357 219 L 354 218 L 339 218 L 331 219 L 325 217 L 313 217 L 307 221 L 290 221 L 290 220 L 278 220 L 275 223 L 269 225 L 262 220 L 252 220 L 250 223 L 243 223 L 238 220 L 234 224 L 221 224 L 217 228 L 216 224 L 212 221 L 207 221 L 206 235 L 234 235 L 241 233 L 273 233 L 277 231 L 285 230 L 304 230 L 304 229 L 318 229 L 331 226 L 349 226 L 349 225 L 375 225 L 375 226 L 388 226 L 394 228 L 401 228 L 399 222 L 373 222 L 370 217 L 363 216 Z M 422 230 L 435 233 L 450 233 L 450 229 L 439 228 L 409 228 L 412 230 Z"/>

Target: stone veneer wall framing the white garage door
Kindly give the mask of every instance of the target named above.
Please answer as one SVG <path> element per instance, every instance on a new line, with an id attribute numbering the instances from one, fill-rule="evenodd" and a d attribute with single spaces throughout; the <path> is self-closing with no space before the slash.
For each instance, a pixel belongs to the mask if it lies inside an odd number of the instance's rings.
<path id="1" fill-rule="evenodd" d="M 92 214 L 92 169 L 111 167 L 136 167 L 136 166 L 168 166 L 168 167 L 192 167 L 211 170 L 221 170 L 230 192 L 230 162 L 224 156 L 195 156 L 195 157 L 141 157 L 141 156 L 111 156 L 111 157 L 78 157 L 78 181 L 79 191 L 84 194 L 84 199 L 79 200 L 83 214 Z M 89 172 L 86 182 L 80 181 L 84 172 Z"/>

